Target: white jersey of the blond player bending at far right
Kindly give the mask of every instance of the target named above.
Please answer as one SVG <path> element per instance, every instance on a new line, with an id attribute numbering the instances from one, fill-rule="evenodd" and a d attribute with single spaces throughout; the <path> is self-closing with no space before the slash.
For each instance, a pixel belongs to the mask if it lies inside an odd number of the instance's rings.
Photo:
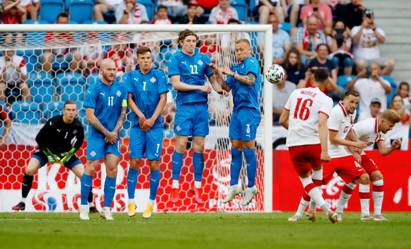
<path id="1" fill-rule="evenodd" d="M 385 134 L 378 131 L 378 118 L 367 118 L 357 122 L 352 130 L 361 141 L 367 142 L 368 146 L 380 140 L 385 141 Z M 361 155 L 365 155 L 365 152 L 363 151 Z"/>

